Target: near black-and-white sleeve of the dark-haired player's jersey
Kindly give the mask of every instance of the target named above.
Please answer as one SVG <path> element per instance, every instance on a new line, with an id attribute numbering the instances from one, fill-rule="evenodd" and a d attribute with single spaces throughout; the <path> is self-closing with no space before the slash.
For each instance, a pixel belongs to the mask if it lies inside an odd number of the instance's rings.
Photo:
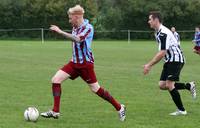
<path id="1" fill-rule="evenodd" d="M 159 42 L 160 42 L 159 50 L 167 50 L 167 49 L 169 49 L 169 44 L 168 44 L 169 38 L 167 37 L 167 34 L 160 33 Z"/>

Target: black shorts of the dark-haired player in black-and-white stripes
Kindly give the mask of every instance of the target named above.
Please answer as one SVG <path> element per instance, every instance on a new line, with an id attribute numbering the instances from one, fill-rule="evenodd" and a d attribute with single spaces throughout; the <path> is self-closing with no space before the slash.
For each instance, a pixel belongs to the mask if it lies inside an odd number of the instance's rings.
<path id="1" fill-rule="evenodd" d="M 161 81 L 171 80 L 179 81 L 179 75 L 184 63 L 179 62 L 169 62 L 163 65 L 163 70 L 160 76 Z"/>

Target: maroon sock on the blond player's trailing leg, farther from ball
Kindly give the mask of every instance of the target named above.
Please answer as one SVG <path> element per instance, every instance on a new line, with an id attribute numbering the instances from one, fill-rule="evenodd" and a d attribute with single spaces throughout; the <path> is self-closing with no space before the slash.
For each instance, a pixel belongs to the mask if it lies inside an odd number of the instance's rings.
<path id="1" fill-rule="evenodd" d="M 107 100 L 109 103 L 111 103 L 117 111 L 121 109 L 121 105 L 119 102 L 117 102 L 108 91 L 104 90 L 102 87 L 99 88 L 99 90 L 96 92 L 98 96 L 103 98 L 104 100 Z"/>

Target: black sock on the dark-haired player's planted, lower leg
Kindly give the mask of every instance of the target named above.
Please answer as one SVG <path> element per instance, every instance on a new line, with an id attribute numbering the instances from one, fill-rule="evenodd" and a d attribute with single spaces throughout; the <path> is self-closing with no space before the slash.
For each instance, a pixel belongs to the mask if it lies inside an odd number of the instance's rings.
<path id="1" fill-rule="evenodd" d="M 181 101 L 181 97 L 179 92 L 176 90 L 176 88 L 174 88 L 173 90 L 170 91 L 171 97 L 174 101 L 174 103 L 176 104 L 177 108 L 181 111 L 185 111 L 185 108 L 183 107 L 182 101 Z"/>

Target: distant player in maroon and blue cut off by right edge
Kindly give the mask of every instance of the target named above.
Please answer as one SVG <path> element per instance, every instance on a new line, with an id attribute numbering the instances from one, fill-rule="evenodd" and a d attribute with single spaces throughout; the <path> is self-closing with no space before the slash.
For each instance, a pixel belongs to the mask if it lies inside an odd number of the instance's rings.
<path id="1" fill-rule="evenodd" d="M 194 40 L 192 41 L 195 46 L 193 52 L 200 55 L 200 28 L 195 28 Z"/>

